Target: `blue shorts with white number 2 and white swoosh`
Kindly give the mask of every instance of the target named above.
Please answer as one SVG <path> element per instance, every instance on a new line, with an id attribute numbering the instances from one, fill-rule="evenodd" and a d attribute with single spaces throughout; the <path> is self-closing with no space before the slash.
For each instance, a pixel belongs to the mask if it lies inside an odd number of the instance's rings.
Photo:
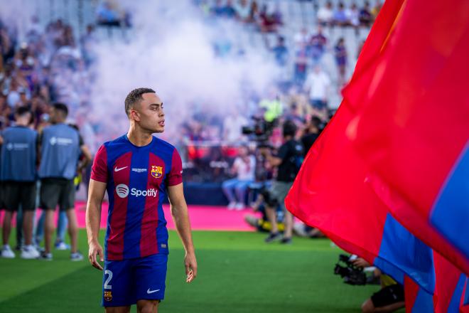
<path id="1" fill-rule="evenodd" d="M 102 306 L 126 307 L 138 300 L 164 299 L 168 255 L 104 261 Z"/>

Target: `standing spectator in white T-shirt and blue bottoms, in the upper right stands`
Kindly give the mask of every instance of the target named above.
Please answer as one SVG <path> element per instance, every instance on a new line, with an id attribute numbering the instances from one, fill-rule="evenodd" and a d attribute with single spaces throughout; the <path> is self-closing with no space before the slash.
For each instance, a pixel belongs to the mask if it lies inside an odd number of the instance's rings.
<path id="1" fill-rule="evenodd" d="M 309 93 L 309 100 L 313 109 L 327 110 L 330 78 L 320 65 L 315 65 L 313 72 L 308 75 L 304 89 Z"/>

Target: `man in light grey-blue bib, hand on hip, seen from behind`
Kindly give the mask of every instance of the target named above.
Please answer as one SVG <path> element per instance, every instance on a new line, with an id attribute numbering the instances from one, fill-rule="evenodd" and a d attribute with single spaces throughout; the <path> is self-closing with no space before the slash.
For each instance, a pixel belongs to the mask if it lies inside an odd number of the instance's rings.
<path id="1" fill-rule="evenodd" d="M 52 260 L 50 248 L 53 235 L 54 210 L 57 205 L 61 211 L 67 213 L 68 233 L 71 241 L 70 260 L 83 259 L 77 250 L 78 226 L 75 215 L 75 184 L 73 179 L 80 167 L 86 166 L 91 154 L 83 143 L 77 129 L 65 124 L 68 107 L 63 103 L 55 103 L 50 112 L 52 125 L 45 127 L 40 134 L 40 156 L 38 175 L 41 179 L 41 208 L 45 210 L 44 241 L 45 251 L 41 253 L 42 260 Z M 85 161 L 79 165 L 80 154 Z"/>

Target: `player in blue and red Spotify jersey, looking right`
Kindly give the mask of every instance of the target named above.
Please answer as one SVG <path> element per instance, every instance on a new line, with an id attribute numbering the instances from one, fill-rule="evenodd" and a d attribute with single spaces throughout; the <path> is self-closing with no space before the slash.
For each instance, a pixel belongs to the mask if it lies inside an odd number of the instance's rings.
<path id="1" fill-rule="evenodd" d="M 154 90 L 132 90 L 125 100 L 129 132 L 99 148 L 92 166 L 86 212 L 88 258 L 102 270 L 106 312 L 158 312 L 164 298 L 168 230 L 163 199 L 185 248 L 186 282 L 197 275 L 197 261 L 183 193 L 182 161 L 175 147 L 153 133 L 164 131 L 163 102 Z M 99 223 L 104 191 L 109 196 L 104 254 Z"/>

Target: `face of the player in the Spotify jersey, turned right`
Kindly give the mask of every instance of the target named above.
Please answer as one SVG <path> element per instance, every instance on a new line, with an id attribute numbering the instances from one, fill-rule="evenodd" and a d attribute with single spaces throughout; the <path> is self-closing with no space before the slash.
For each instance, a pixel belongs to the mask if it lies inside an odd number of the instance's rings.
<path id="1" fill-rule="evenodd" d="M 150 132 L 164 132 L 163 102 L 153 92 L 142 95 L 140 105 L 135 110 L 139 113 L 139 125 Z"/>

